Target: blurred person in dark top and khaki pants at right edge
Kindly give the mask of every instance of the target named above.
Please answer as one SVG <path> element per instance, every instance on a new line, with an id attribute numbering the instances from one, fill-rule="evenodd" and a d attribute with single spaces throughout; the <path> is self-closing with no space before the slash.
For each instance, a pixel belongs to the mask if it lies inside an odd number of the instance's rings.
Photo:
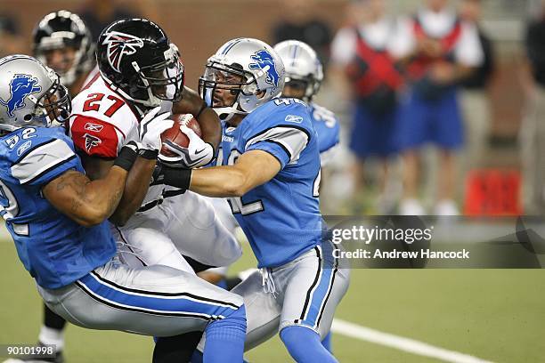
<path id="1" fill-rule="evenodd" d="M 528 24 L 525 45 L 532 75 L 520 132 L 525 214 L 545 215 L 545 1 Z"/>

